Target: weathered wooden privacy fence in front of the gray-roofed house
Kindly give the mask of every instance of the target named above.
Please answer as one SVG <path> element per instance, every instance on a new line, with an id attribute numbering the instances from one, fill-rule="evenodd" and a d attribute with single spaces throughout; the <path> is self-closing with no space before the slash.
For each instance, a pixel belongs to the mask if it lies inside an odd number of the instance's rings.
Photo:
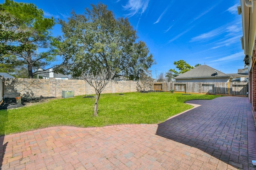
<path id="1" fill-rule="evenodd" d="M 170 91 L 184 93 L 210 93 L 224 95 L 247 95 L 248 83 L 238 82 L 156 82 L 154 90 Z"/>

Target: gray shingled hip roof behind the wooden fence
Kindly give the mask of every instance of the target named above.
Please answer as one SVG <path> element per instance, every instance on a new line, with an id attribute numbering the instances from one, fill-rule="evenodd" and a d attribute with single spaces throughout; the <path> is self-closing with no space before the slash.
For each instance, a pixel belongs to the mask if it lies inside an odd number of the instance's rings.
<path id="1" fill-rule="evenodd" d="M 218 74 L 215 75 L 216 69 L 209 67 L 208 65 L 199 65 L 198 67 L 187 71 L 186 73 L 183 73 L 181 75 L 178 75 L 177 77 L 174 77 L 174 79 L 202 79 L 202 78 L 216 78 L 216 77 L 230 77 L 229 75 L 218 71 Z"/>

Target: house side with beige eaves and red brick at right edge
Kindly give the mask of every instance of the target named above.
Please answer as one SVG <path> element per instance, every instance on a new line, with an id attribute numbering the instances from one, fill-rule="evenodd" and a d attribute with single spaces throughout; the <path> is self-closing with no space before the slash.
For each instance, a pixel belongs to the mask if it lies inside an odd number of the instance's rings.
<path id="1" fill-rule="evenodd" d="M 256 1 L 240 0 L 238 14 L 242 14 L 243 36 L 240 38 L 244 50 L 244 64 L 249 73 L 249 99 L 252 111 L 256 111 Z"/>

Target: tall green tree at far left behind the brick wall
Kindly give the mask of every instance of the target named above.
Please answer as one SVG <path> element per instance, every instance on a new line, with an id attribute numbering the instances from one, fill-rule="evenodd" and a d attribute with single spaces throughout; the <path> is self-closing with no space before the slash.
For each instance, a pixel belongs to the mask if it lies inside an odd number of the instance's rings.
<path id="1" fill-rule="evenodd" d="M 5 65 L 26 65 L 28 77 L 33 78 L 38 68 L 44 68 L 57 55 L 56 40 L 50 30 L 53 18 L 34 4 L 5 0 L 0 4 L 0 61 Z M 38 50 L 42 49 L 38 53 Z M 16 57 L 11 57 L 11 56 Z"/>

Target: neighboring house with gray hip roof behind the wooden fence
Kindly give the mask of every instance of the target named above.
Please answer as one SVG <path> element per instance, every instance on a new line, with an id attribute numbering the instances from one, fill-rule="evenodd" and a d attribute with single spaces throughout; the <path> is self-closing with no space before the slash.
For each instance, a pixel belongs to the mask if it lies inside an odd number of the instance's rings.
<path id="1" fill-rule="evenodd" d="M 194 69 L 187 71 L 177 77 L 174 77 L 176 83 L 179 82 L 229 82 L 230 76 L 218 71 L 208 65 L 199 65 Z"/>

